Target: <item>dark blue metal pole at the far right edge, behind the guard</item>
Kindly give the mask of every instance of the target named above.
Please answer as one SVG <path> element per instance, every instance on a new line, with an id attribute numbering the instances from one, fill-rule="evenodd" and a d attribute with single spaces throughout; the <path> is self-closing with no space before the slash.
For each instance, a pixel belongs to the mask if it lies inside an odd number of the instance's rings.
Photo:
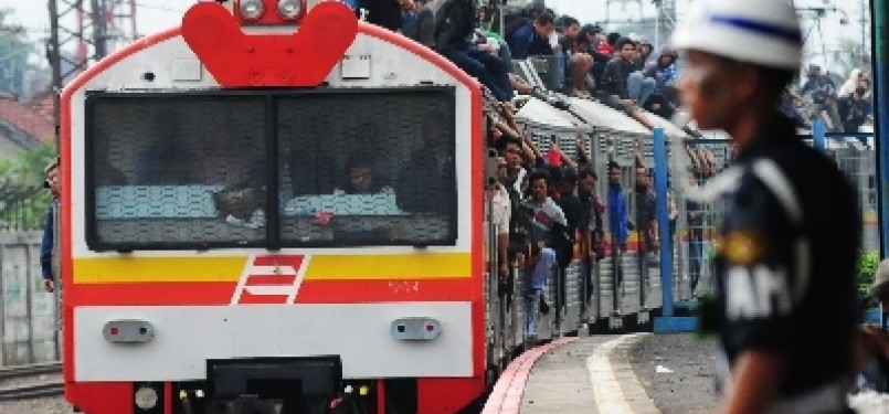
<path id="1" fill-rule="evenodd" d="M 877 216 L 880 230 L 880 257 L 886 257 L 887 247 L 889 247 L 889 226 L 887 226 L 887 219 L 889 219 L 889 138 L 886 131 L 889 128 L 889 107 L 886 106 L 889 100 L 889 47 L 887 47 L 887 31 L 889 28 L 886 25 L 886 0 L 872 0 L 870 2 L 870 15 L 874 22 L 871 29 L 871 54 L 874 57 L 874 105 L 876 107 L 875 124 L 876 135 L 874 145 L 877 150 L 877 184 L 878 193 L 877 202 L 879 203 L 879 214 Z"/>

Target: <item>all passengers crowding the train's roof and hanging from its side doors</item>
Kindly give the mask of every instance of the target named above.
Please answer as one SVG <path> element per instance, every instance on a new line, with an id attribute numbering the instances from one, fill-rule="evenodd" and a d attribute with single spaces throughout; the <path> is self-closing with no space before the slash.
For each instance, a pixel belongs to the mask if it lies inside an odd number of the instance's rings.
<path id="1" fill-rule="evenodd" d="M 576 244 L 581 257 L 590 263 L 605 258 L 606 252 L 626 251 L 628 230 L 641 238 L 639 250 L 652 261 L 659 240 L 655 219 L 655 198 L 648 170 L 637 156 L 636 216 L 628 216 L 627 198 L 621 187 L 618 164 L 611 162 L 595 171 L 578 141 L 576 159 L 553 146 L 542 153 L 515 121 L 517 97 L 535 94 L 514 73 L 512 61 L 554 56 L 564 67 L 563 89 L 569 96 L 596 99 L 624 110 L 652 129 L 645 109 L 671 118 L 679 102 L 676 89 L 678 54 L 669 46 L 654 51 L 645 36 L 635 33 L 606 33 L 596 24 L 582 23 L 569 15 L 557 17 L 542 2 L 535 1 L 505 12 L 497 1 L 478 4 L 476 0 L 350 0 L 368 22 L 405 36 L 438 52 L 467 74 L 476 77 L 486 92 L 485 114 L 490 126 L 489 146 L 499 151 L 497 182 L 488 195 L 493 200 L 502 280 L 510 280 L 509 264 L 528 273 L 533 294 L 529 306 L 546 310 L 541 293 L 546 275 L 568 266 Z M 502 34 L 501 34 L 502 33 Z M 870 79 L 858 70 L 838 91 L 829 76 L 812 66 L 806 83 L 798 91 L 787 89 L 784 109 L 801 128 L 822 113 L 829 117 L 835 131 L 856 132 L 870 115 Z M 716 173 L 712 153 L 687 149 L 692 161 L 689 173 L 698 182 Z M 605 173 L 606 190 L 596 189 L 597 172 Z M 674 237 L 678 209 L 669 198 L 670 238 Z M 686 202 L 688 224 L 689 278 L 692 291 L 703 266 L 707 212 L 705 206 Z M 610 222 L 605 226 L 602 222 Z M 603 229 L 610 229 L 611 248 Z M 530 327 L 529 332 L 535 330 Z"/>

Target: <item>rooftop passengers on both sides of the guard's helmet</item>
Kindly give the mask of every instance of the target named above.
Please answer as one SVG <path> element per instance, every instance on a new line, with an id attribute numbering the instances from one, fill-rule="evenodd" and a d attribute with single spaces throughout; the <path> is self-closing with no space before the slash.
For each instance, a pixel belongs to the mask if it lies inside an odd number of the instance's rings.
<path id="1" fill-rule="evenodd" d="M 564 67 L 563 92 L 626 112 L 652 128 L 639 108 L 669 119 L 678 107 L 678 54 L 653 50 L 635 33 L 606 33 L 570 15 L 557 17 L 542 1 L 506 8 L 500 30 L 496 0 L 346 0 L 367 21 L 401 32 L 441 53 L 475 76 L 508 109 L 517 94 L 533 87 L 512 74 L 512 60 L 557 56 Z M 502 34 L 501 34 L 502 33 Z M 853 68 L 837 88 L 836 76 L 811 65 L 802 87 L 789 88 L 783 109 L 808 129 L 822 118 L 834 132 L 858 132 L 871 123 L 872 83 Z"/>

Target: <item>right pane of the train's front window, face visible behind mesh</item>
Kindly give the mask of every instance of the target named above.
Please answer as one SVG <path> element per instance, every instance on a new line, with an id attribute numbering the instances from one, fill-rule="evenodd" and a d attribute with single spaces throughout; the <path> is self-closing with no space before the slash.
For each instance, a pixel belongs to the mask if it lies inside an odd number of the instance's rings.
<path id="1" fill-rule="evenodd" d="M 453 105 L 441 89 L 282 98 L 282 243 L 453 244 Z"/>

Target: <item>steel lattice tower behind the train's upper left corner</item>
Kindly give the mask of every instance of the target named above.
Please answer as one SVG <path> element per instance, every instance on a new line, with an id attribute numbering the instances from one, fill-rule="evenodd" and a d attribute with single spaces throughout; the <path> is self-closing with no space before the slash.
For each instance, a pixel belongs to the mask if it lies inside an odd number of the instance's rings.
<path id="1" fill-rule="evenodd" d="M 65 82 L 137 39 L 135 0 L 47 0 L 53 114 L 59 148 L 59 94 Z M 73 24 L 72 24 L 73 22 Z M 73 51 L 72 51 L 73 50 Z"/>

